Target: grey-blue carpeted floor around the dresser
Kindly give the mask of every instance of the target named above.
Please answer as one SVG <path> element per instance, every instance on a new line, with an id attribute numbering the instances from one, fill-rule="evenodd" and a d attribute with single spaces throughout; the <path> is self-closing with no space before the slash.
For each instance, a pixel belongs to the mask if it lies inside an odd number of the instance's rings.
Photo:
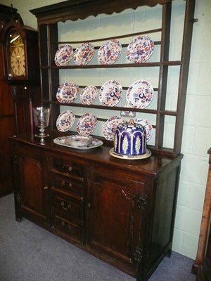
<path id="1" fill-rule="evenodd" d="M 150 281 L 195 281 L 193 260 L 172 253 Z M 0 198 L 0 281 L 135 281 L 26 219 L 15 221 L 13 195 Z"/>

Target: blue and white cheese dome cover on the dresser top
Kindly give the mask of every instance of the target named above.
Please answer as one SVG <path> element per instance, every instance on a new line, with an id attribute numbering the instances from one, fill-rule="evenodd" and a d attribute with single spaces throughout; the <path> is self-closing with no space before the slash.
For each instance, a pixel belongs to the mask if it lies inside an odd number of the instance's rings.
<path id="1" fill-rule="evenodd" d="M 114 152 L 119 155 L 143 155 L 146 153 L 146 130 L 133 119 L 117 126 Z"/>

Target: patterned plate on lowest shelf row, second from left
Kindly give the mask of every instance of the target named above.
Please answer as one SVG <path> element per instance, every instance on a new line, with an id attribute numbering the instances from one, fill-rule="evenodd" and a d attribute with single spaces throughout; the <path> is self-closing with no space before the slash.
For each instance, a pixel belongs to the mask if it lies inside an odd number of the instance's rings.
<path id="1" fill-rule="evenodd" d="M 77 132 L 80 136 L 89 136 L 96 129 L 97 118 L 95 115 L 86 113 L 77 122 Z"/>

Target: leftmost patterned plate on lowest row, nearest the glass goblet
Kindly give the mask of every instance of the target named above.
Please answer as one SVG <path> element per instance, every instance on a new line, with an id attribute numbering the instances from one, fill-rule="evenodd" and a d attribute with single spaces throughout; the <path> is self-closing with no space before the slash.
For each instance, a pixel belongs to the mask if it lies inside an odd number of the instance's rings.
<path id="1" fill-rule="evenodd" d="M 56 120 L 56 128 L 58 131 L 69 131 L 75 122 L 75 114 L 70 110 L 65 110 L 60 113 Z"/>

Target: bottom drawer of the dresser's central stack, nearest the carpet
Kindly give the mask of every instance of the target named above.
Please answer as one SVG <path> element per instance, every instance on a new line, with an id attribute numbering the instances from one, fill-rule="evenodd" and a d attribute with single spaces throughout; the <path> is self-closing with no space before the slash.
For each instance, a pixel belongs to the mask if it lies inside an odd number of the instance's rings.
<path id="1" fill-rule="evenodd" d="M 69 237 L 74 237 L 77 240 L 83 240 L 84 229 L 82 226 L 77 226 L 75 223 L 70 223 L 70 221 L 62 218 L 58 214 L 53 215 L 53 228 L 62 231 L 65 235 Z"/>

